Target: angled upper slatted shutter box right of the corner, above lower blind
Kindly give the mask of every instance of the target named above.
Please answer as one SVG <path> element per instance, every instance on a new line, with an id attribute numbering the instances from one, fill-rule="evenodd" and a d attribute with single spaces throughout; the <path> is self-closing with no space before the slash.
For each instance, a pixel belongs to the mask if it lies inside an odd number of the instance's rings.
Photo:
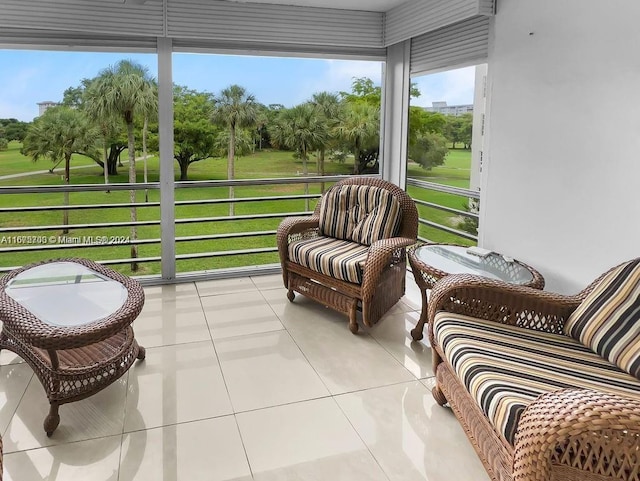
<path id="1" fill-rule="evenodd" d="M 410 0 L 385 15 L 384 44 L 417 37 L 478 15 L 494 14 L 494 0 Z"/>

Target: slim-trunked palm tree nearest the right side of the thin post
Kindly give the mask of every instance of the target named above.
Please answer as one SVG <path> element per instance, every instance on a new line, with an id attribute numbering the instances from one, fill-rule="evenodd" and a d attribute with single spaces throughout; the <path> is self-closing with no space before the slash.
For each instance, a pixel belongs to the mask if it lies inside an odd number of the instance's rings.
<path id="1" fill-rule="evenodd" d="M 235 178 L 236 130 L 248 127 L 255 122 L 258 107 L 253 95 L 239 85 L 231 85 L 220 93 L 211 120 L 224 125 L 229 131 L 227 149 L 227 178 Z M 233 187 L 229 187 L 229 199 L 234 198 Z M 229 204 L 229 215 L 234 215 L 233 202 Z"/>

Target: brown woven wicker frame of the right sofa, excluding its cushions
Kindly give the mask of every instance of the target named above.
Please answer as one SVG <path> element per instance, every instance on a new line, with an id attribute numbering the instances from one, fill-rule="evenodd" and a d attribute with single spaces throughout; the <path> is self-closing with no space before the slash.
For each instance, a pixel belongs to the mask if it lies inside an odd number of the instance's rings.
<path id="1" fill-rule="evenodd" d="M 575 296 L 479 276 L 451 275 L 431 293 L 429 322 L 439 311 L 562 335 L 571 312 L 603 274 Z M 533 401 L 510 446 L 482 413 L 430 333 L 437 386 L 494 481 L 640 481 L 640 401 L 593 390 L 545 393 Z"/>

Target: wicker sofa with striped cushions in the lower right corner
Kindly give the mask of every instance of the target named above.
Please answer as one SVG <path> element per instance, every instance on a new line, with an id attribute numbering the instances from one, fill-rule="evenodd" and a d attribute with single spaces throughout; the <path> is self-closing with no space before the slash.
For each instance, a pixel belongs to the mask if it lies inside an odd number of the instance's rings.
<path id="1" fill-rule="evenodd" d="M 449 276 L 428 319 L 434 398 L 493 480 L 640 480 L 640 259 L 576 296 Z"/>

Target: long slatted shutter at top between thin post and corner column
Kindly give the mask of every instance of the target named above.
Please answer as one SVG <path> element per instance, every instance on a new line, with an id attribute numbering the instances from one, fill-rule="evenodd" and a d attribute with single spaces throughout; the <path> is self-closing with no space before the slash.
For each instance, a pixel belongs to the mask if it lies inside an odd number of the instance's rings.
<path id="1" fill-rule="evenodd" d="M 167 2 L 167 34 L 173 38 L 383 47 L 379 12 L 211 0 Z"/>

